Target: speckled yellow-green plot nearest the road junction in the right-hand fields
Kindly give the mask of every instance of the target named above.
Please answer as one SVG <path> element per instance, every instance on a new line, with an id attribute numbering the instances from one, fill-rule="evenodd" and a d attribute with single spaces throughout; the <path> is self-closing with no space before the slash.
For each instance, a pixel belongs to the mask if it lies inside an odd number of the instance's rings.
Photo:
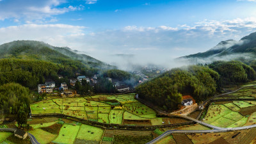
<path id="1" fill-rule="evenodd" d="M 228 109 L 227 107 L 220 105 L 211 105 L 208 108 L 207 115 L 205 116 L 204 122 L 211 124 L 215 120 L 218 120 L 224 115 L 231 113 L 232 110 Z"/>

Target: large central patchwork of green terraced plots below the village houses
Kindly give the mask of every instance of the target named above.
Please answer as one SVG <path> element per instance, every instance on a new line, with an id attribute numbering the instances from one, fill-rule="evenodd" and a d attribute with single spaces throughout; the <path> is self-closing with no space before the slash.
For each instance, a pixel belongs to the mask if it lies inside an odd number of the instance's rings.
<path id="1" fill-rule="evenodd" d="M 134 93 L 130 93 L 125 95 L 94 95 L 92 97 L 49 99 L 31 104 L 31 112 L 32 115 L 62 113 L 105 124 L 122 124 L 124 120 L 125 122 L 134 120 L 136 125 L 145 125 L 136 120 L 151 121 L 146 125 L 164 124 L 164 119 L 157 118 L 154 110 L 138 102 L 134 96 Z M 128 123 L 132 124 L 132 121 Z M 168 124 L 171 123 L 168 122 Z"/>

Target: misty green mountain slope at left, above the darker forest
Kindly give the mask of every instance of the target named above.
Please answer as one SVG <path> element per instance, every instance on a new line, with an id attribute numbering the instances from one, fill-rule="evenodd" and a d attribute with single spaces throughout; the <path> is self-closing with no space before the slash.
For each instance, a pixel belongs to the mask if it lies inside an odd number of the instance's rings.
<path id="1" fill-rule="evenodd" d="M 17 40 L 0 45 L 0 58 L 44 60 L 53 63 L 66 63 L 73 60 L 73 62 L 80 62 L 91 68 L 115 68 L 86 54 L 77 54 L 68 47 L 54 47 L 32 40 Z"/>

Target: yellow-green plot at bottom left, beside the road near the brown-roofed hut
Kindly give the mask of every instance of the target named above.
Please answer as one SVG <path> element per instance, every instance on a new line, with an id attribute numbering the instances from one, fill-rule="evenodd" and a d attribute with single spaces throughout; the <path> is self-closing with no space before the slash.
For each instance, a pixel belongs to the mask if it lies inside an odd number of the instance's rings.
<path id="1" fill-rule="evenodd" d="M 44 131 L 42 129 L 35 129 L 33 131 L 29 131 L 29 133 L 33 134 L 38 140 L 39 143 L 51 143 L 57 137 L 57 134 L 51 134 L 50 132 Z"/>

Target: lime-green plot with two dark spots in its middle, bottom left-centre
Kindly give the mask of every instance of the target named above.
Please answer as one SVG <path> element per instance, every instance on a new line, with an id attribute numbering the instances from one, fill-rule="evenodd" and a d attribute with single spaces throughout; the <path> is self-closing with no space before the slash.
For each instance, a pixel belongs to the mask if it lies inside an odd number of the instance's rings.
<path id="1" fill-rule="evenodd" d="M 100 141 L 103 133 L 104 130 L 100 129 L 99 127 L 82 124 L 76 138 L 83 140 Z"/>

